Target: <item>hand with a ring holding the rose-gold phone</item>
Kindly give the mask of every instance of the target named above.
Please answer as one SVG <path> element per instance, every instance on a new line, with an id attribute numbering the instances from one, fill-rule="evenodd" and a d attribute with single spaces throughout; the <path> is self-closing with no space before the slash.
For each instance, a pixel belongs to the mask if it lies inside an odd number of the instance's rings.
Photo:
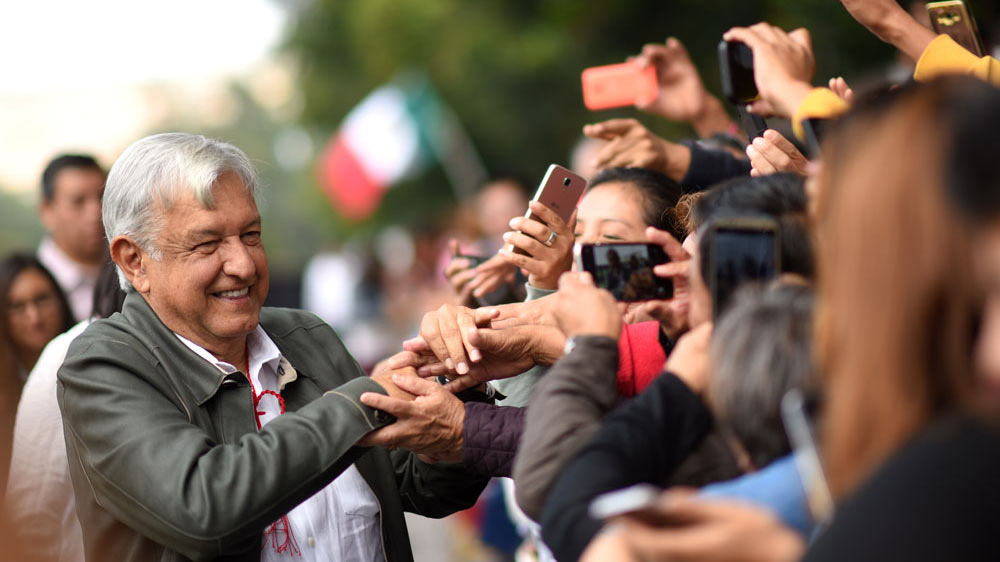
<path id="1" fill-rule="evenodd" d="M 559 276 L 573 266 L 573 233 L 576 230 L 576 211 L 569 222 L 538 201 L 528 204 L 536 220 L 527 217 L 510 219 L 514 229 L 503 235 L 504 242 L 512 244 L 528 255 L 514 253 L 506 246 L 500 250 L 510 264 L 528 273 L 528 283 L 539 289 L 554 290 L 559 286 Z M 546 242 L 550 237 L 550 244 Z"/>

